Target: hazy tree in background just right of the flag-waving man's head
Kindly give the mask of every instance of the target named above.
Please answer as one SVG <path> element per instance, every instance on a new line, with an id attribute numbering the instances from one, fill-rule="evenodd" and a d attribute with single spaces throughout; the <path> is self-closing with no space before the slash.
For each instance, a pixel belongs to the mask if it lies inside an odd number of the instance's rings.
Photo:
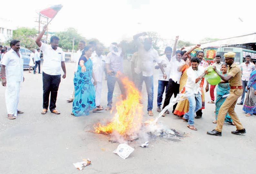
<path id="1" fill-rule="evenodd" d="M 66 29 L 65 31 L 56 32 L 55 36 L 60 38 L 59 47 L 65 49 L 65 51 L 73 49 L 73 41 L 74 41 L 74 50 L 77 50 L 78 43 L 80 40 L 85 41 L 85 38 L 81 36 L 81 34 L 79 34 L 77 30 L 72 27 Z"/>

